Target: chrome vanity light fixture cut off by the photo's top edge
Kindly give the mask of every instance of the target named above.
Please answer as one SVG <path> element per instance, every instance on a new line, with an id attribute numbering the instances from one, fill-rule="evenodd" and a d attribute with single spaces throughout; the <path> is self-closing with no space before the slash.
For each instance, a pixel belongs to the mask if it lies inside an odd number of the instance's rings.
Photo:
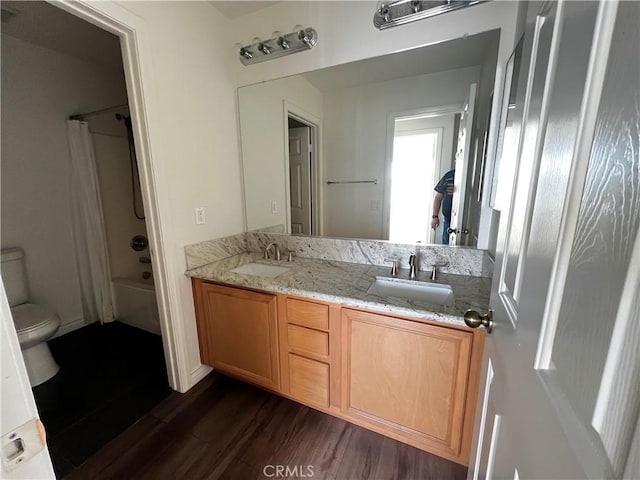
<path id="1" fill-rule="evenodd" d="M 383 2 L 373 15 L 373 24 L 377 29 L 385 30 L 485 1 L 487 0 L 395 0 Z"/>

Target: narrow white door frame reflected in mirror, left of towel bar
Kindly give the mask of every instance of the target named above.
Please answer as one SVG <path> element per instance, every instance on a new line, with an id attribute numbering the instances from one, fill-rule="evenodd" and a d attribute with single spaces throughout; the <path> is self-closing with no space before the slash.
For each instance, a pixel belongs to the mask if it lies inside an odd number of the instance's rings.
<path id="1" fill-rule="evenodd" d="M 297 105 L 283 100 L 284 131 L 284 201 L 285 201 L 285 233 L 291 234 L 291 176 L 289 172 L 289 117 L 309 127 L 311 140 L 311 235 L 322 235 L 324 232 L 323 208 L 324 191 L 322 188 L 322 119 L 307 112 Z"/>

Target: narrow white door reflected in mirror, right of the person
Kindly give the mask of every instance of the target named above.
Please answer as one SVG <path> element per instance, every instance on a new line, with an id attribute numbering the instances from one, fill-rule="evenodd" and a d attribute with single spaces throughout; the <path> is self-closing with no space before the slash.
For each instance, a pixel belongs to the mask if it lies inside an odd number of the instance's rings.
<path id="1" fill-rule="evenodd" d="M 476 105 L 477 85 L 471 84 L 469 95 L 464 103 L 464 109 L 460 115 L 460 128 L 458 130 L 458 142 L 455 153 L 456 177 L 454 180 L 455 190 L 451 204 L 451 230 L 449 235 L 449 245 L 464 245 L 466 234 L 465 229 L 464 204 L 467 190 L 467 171 L 469 169 L 469 159 L 471 158 L 471 137 L 473 133 L 473 114 Z"/>

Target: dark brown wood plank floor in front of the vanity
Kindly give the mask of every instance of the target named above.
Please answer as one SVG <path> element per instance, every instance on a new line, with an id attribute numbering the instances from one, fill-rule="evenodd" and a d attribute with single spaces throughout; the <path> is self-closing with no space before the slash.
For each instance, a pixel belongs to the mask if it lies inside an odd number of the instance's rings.
<path id="1" fill-rule="evenodd" d="M 186 394 L 173 392 L 66 478 L 426 480 L 466 474 L 448 460 L 212 373 Z"/>

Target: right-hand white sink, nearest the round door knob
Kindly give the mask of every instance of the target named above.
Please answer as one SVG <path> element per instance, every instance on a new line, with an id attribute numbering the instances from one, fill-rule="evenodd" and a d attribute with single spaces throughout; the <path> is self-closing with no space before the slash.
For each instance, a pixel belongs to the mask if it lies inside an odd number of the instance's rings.
<path id="1" fill-rule="evenodd" d="M 453 305 L 453 290 L 451 286 L 441 283 L 376 277 L 367 293 L 380 297 L 400 297 L 438 305 Z"/>

